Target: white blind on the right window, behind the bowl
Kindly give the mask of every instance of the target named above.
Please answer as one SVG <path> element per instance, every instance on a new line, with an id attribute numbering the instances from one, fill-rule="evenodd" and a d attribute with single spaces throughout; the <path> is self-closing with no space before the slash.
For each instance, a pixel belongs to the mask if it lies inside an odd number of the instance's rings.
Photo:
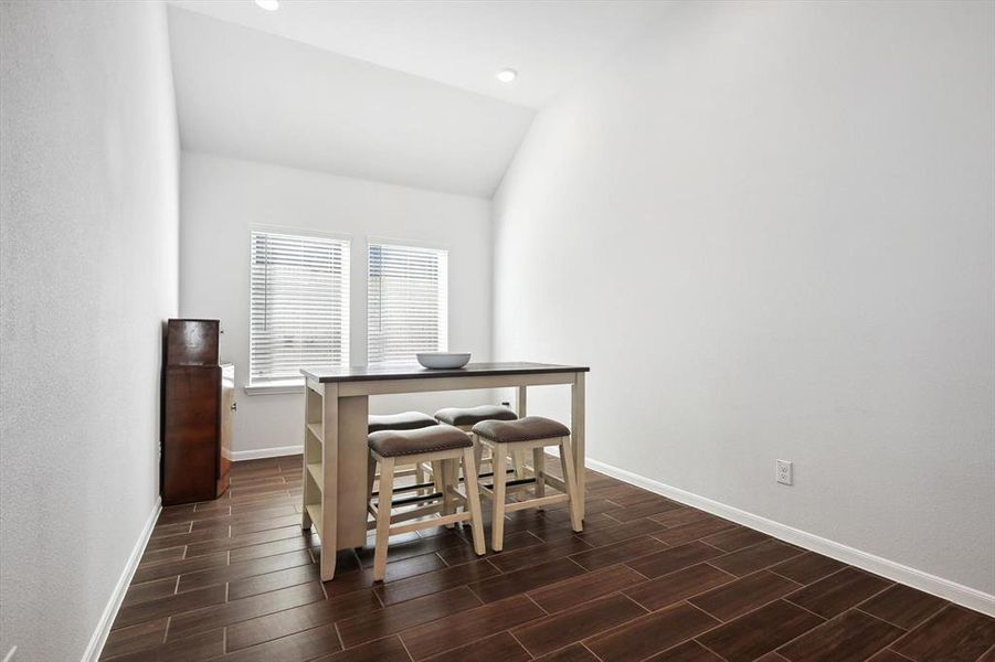
<path id="1" fill-rule="evenodd" d="M 414 363 L 448 346 L 448 252 L 370 244 L 369 362 Z"/>

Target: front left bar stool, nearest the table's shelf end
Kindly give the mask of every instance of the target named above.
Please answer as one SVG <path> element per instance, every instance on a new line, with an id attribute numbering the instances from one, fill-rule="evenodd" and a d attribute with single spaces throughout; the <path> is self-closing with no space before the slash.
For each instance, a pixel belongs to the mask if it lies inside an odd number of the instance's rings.
<path id="1" fill-rule="evenodd" d="M 370 447 L 367 472 L 367 493 L 370 496 L 368 510 L 373 515 L 373 522 L 370 524 L 377 527 L 377 543 L 373 551 L 375 581 L 382 581 L 387 572 L 387 549 L 392 535 L 468 520 L 473 528 L 474 551 L 478 556 L 486 552 L 473 441 L 465 433 L 443 425 L 414 430 L 382 430 L 370 435 L 368 444 Z M 447 480 L 458 472 L 461 460 L 466 477 L 464 493 L 459 492 L 456 481 Z M 393 501 L 394 467 L 398 462 L 416 465 L 438 462 L 443 476 L 436 484 L 442 487 L 442 491 Z M 378 465 L 380 465 L 380 491 L 374 506 L 373 478 Z M 464 512 L 456 512 L 457 502 L 462 503 Z M 409 505 L 413 505 L 414 509 L 396 515 L 392 513 L 394 508 L 403 509 Z M 437 516 L 421 519 L 433 514 Z M 400 524 L 410 520 L 416 521 Z"/>

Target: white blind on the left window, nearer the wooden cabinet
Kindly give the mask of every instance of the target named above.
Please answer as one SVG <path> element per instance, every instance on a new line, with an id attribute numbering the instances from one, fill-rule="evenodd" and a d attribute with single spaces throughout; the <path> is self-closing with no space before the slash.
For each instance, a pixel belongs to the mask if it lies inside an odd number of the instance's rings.
<path id="1" fill-rule="evenodd" d="M 349 242 L 252 233 L 250 383 L 349 363 Z"/>

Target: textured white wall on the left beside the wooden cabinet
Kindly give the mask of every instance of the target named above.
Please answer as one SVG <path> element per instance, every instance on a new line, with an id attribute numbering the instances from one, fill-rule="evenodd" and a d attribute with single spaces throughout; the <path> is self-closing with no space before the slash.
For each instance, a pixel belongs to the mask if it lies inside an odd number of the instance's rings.
<path id="1" fill-rule="evenodd" d="M 0 655 L 80 660 L 158 496 L 166 11 L 0 4 Z"/>

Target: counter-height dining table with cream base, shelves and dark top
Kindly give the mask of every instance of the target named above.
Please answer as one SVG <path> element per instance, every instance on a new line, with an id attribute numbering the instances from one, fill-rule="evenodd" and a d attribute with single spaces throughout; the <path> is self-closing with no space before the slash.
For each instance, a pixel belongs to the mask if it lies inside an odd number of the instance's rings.
<path id="1" fill-rule="evenodd" d="M 421 365 L 307 367 L 304 412 L 301 527 L 321 541 L 321 580 L 335 577 L 336 552 L 367 542 L 367 426 L 371 395 L 516 388 L 516 410 L 527 415 L 528 387 L 567 385 L 578 490 L 584 493 L 584 381 L 590 367 L 548 363 L 470 363 L 461 369 Z M 567 423 L 567 421 L 564 421 Z M 580 505 L 583 517 L 584 505 Z"/>

